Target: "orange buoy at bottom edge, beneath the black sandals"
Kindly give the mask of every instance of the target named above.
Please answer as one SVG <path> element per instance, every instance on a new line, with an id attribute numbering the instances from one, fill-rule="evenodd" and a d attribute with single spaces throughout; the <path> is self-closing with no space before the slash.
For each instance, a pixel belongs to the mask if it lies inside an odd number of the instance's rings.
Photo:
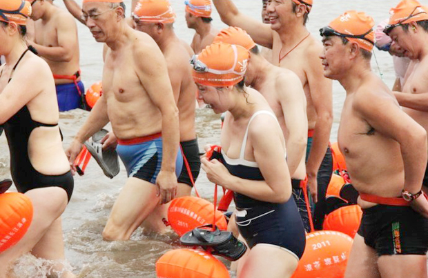
<path id="1" fill-rule="evenodd" d="M 156 262 L 156 274 L 162 278 L 230 278 L 221 261 L 194 249 L 166 252 Z"/>

